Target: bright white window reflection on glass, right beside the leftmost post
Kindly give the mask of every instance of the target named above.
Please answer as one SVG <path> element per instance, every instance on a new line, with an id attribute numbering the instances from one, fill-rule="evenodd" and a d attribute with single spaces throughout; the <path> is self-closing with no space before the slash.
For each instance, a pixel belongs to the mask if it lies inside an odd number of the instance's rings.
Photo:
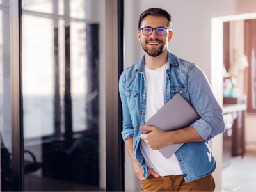
<path id="1" fill-rule="evenodd" d="M 22 17 L 24 138 L 54 133 L 53 42 L 52 19 Z"/>

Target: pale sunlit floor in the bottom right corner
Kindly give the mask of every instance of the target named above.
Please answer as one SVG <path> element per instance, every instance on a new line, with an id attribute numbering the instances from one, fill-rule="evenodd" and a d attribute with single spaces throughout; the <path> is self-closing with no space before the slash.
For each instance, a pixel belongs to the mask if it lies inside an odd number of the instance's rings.
<path id="1" fill-rule="evenodd" d="M 246 152 L 244 158 L 233 157 L 223 168 L 221 191 L 256 191 L 256 151 Z"/>

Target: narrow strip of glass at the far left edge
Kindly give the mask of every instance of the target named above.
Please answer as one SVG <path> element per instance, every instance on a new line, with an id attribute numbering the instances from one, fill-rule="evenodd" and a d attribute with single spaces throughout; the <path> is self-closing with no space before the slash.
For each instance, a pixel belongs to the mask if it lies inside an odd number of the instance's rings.
<path id="1" fill-rule="evenodd" d="M 1 191 L 12 190 L 9 1 L 0 1 L 0 141 Z"/>

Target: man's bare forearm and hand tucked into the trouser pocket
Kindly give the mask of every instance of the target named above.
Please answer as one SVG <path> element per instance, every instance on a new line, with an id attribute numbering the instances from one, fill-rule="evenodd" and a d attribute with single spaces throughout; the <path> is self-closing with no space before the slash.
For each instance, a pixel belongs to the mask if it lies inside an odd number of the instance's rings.
<path id="1" fill-rule="evenodd" d="M 133 152 L 133 137 L 128 138 L 125 140 L 125 147 L 127 148 L 127 152 L 131 158 L 132 161 L 132 167 L 133 167 L 133 172 L 134 174 L 138 177 L 139 180 L 143 180 L 143 169 L 141 168 L 140 164 L 136 161 L 134 157 L 134 152 Z M 148 175 L 153 175 L 154 177 L 160 177 L 160 175 L 154 170 L 148 168 Z"/>

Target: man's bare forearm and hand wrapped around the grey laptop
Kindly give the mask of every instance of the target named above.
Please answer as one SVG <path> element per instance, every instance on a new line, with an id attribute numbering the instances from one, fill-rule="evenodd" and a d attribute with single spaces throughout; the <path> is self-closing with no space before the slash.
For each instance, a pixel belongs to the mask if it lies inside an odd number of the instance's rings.
<path id="1" fill-rule="evenodd" d="M 202 142 L 204 139 L 198 134 L 194 127 L 186 127 L 176 131 L 163 131 L 154 126 L 141 126 L 141 129 L 151 131 L 148 134 L 141 134 L 141 139 L 153 150 L 159 150 L 167 145 L 177 143 Z"/>

